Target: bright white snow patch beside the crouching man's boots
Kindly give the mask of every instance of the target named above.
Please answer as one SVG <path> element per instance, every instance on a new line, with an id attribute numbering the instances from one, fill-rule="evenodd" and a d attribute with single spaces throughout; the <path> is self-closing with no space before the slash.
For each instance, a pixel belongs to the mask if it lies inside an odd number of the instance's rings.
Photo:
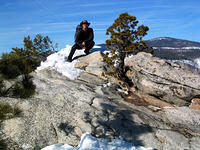
<path id="1" fill-rule="evenodd" d="M 71 63 L 65 60 L 69 55 L 70 50 L 71 46 L 66 45 L 66 48 L 61 49 L 60 51 L 48 56 L 45 62 L 41 62 L 41 66 L 38 67 L 37 70 L 42 70 L 49 67 L 50 69 L 57 70 L 69 79 L 75 80 L 80 75 L 82 70 L 74 68 L 75 63 L 78 60 L 74 60 Z M 73 57 L 84 54 L 84 50 L 76 50 Z"/>

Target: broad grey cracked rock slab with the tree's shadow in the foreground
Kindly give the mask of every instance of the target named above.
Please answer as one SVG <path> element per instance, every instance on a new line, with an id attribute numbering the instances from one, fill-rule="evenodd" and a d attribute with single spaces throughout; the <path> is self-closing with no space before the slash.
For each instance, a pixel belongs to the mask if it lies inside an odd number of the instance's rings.
<path id="1" fill-rule="evenodd" d="M 3 137 L 21 149 L 37 150 L 56 143 L 76 146 L 85 132 L 98 138 L 122 136 L 155 149 L 200 149 L 199 124 L 191 124 L 199 118 L 181 126 L 177 115 L 182 109 L 152 112 L 127 103 L 115 86 L 104 87 L 104 80 L 86 72 L 74 81 L 48 69 L 33 76 L 37 89 L 32 98 L 0 99 L 23 111 L 21 117 L 4 121 L 1 129 Z M 190 115 L 200 113 L 188 111 Z"/>

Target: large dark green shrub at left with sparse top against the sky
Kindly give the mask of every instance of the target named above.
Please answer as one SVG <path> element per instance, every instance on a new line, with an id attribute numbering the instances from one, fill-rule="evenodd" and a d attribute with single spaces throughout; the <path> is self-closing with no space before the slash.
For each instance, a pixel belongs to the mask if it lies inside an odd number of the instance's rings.
<path id="1" fill-rule="evenodd" d="M 10 53 L 4 53 L 0 59 L 0 74 L 6 79 L 13 79 L 22 74 L 34 71 L 40 62 L 55 52 L 48 36 L 37 34 L 32 40 L 24 37 L 24 48 L 13 48 Z"/>

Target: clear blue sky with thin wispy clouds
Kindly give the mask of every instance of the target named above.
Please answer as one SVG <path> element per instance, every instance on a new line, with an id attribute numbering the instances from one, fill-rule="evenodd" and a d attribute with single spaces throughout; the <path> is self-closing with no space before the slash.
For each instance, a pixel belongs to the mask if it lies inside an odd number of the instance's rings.
<path id="1" fill-rule="evenodd" d="M 175 37 L 200 42 L 199 0 L 0 0 L 0 53 L 22 47 L 24 36 L 48 35 L 60 48 L 73 44 L 76 25 L 87 19 L 95 42 L 128 12 L 149 26 L 145 39 Z"/>

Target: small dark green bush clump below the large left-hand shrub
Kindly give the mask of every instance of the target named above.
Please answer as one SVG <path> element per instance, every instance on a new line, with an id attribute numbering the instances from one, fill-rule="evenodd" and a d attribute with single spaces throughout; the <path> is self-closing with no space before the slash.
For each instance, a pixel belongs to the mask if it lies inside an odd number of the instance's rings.
<path id="1" fill-rule="evenodd" d="M 32 76 L 24 75 L 21 81 L 14 83 L 12 91 L 14 97 L 28 98 L 35 94 L 36 86 L 33 84 Z"/>

